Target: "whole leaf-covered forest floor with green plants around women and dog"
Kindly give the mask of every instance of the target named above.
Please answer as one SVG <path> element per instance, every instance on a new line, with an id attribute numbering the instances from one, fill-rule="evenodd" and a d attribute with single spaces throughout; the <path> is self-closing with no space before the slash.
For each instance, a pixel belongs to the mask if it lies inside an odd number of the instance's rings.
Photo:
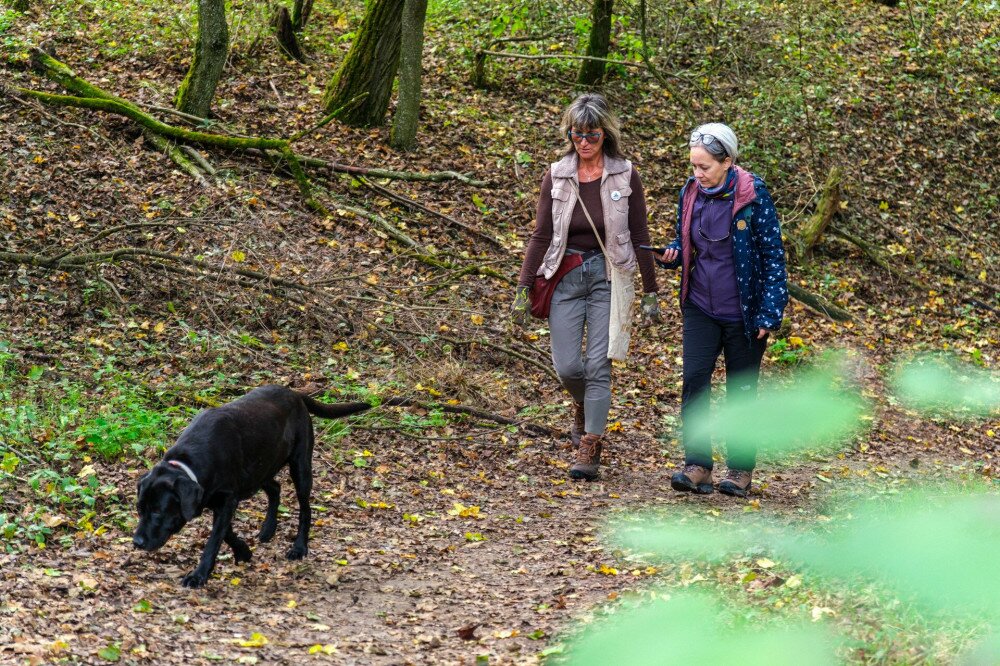
<path id="1" fill-rule="evenodd" d="M 652 510 L 691 525 L 764 517 L 833 533 L 853 524 L 853 502 L 924 486 L 995 497 L 995 407 L 928 412 L 892 377 L 899 362 L 944 353 L 995 386 L 1000 9 L 652 3 L 656 75 L 641 66 L 638 9 L 616 6 L 610 57 L 632 64 L 609 66 L 602 89 L 654 241 L 673 237 L 686 137 L 701 122 L 733 126 L 790 246 L 831 171 L 843 173 L 830 227 L 789 271 L 850 320 L 793 301 L 764 372 L 779 390 L 839 352 L 867 408 L 836 446 L 765 459 L 748 501 L 669 489 L 682 459 L 676 275 L 658 275 L 663 323 L 636 328 L 615 368 L 599 483 L 566 477 L 570 402 L 544 322 L 509 323 L 539 182 L 565 149 L 558 122 L 579 92 L 578 61 L 491 56 L 477 88 L 474 56 L 504 38 L 531 38 L 504 43 L 522 55 L 581 53 L 583 5 L 432 1 L 416 148 L 393 151 L 387 124 L 333 122 L 296 151 L 483 182 L 307 165 L 329 215 L 260 155 L 204 151 L 214 174 L 200 184 L 123 117 L 13 91 L 61 92 L 31 67 L 44 46 L 181 123 L 162 109 L 190 57 L 188 3 L 0 9 L 0 662 L 559 663 L 597 654 L 575 641 L 632 600 L 690 590 L 721 599 L 720 632 L 805 621 L 839 635 L 847 663 L 958 663 L 988 634 L 982 615 L 928 610 L 884 581 L 831 580 L 773 544 L 658 560 L 615 532 Z M 298 64 L 278 51 L 263 5 L 231 3 L 232 52 L 200 129 L 287 138 L 313 128 L 363 10 L 317 2 Z M 294 522 L 283 507 L 277 547 L 251 539 L 251 563 L 225 555 L 206 588 L 182 590 L 207 525 L 152 556 L 133 551 L 136 479 L 198 410 L 265 383 L 420 405 L 317 421 L 309 558 L 283 559 Z M 294 504 L 287 488 L 283 497 Z M 237 532 L 255 533 L 262 516 L 256 498 Z"/>

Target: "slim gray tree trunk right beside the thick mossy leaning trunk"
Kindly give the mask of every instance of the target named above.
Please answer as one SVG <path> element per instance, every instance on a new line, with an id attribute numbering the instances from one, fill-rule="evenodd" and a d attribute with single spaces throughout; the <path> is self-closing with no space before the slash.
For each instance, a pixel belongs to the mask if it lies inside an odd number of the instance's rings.
<path id="1" fill-rule="evenodd" d="M 403 53 L 399 63 L 399 103 L 390 139 L 392 146 L 398 150 L 411 149 L 417 139 L 426 16 L 427 0 L 405 0 L 400 41 Z"/>

